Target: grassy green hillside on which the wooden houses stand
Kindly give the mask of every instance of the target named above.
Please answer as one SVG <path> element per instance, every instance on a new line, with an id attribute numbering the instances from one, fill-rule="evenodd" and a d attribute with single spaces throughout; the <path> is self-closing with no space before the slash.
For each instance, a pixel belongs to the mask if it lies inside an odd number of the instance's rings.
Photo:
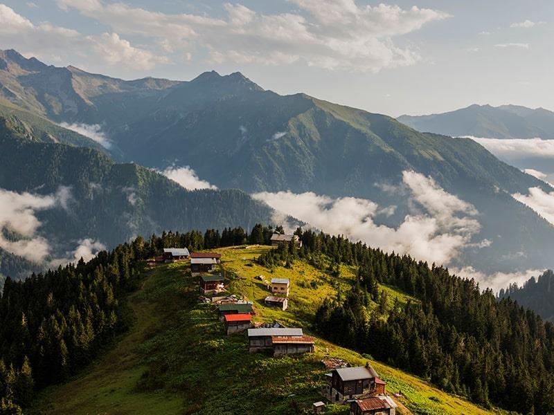
<path id="1" fill-rule="evenodd" d="M 296 262 L 274 274 L 292 281 L 289 310 L 267 308 L 265 286 L 253 277 L 271 277 L 253 259 L 268 247 L 235 247 L 223 253 L 229 291 L 254 301 L 257 321 L 301 325 L 310 333 L 313 313 L 323 296 L 350 286 L 352 270 L 342 268 L 338 284 L 312 266 Z M 389 391 L 402 391 L 399 414 L 488 414 L 449 396 L 414 376 L 316 338 L 316 352 L 271 358 L 247 351 L 244 335 L 224 335 L 215 308 L 197 302 L 197 279 L 186 264 L 145 270 L 139 291 L 129 297 L 134 324 L 105 356 L 70 382 L 47 389 L 35 407 L 46 414 L 299 414 L 321 400 L 318 391 L 332 356 L 375 367 Z M 388 289 L 388 288 L 381 288 Z M 393 295 L 391 291 L 391 295 Z M 397 293 L 400 301 L 407 298 Z M 329 414 L 346 407 L 329 405 Z"/>

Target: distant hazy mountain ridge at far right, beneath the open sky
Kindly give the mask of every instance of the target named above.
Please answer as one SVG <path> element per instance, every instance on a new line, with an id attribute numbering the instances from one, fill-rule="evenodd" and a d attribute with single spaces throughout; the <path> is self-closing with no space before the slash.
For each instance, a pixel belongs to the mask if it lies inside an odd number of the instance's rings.
<path id="1" fill-rule="evenodd" d="M 471 105 L 470 107 L 431 114 L 400 116 L 398 121 L 418 131 L 447 136 L 480 138 L 554 138 L 554 112 L 519 105 Z"/>

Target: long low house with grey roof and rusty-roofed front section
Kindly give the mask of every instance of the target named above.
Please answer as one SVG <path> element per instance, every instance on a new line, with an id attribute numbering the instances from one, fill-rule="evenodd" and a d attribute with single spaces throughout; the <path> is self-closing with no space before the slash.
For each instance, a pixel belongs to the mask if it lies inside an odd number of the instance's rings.
<path id="1" fill-rule="evenodd" d="M 281 356 L 314 351 L 314 339 L 305 336 L 302 329 L 249 329 L 248 340 L 251 353 L 271 350 L 274 356 Z"/>

